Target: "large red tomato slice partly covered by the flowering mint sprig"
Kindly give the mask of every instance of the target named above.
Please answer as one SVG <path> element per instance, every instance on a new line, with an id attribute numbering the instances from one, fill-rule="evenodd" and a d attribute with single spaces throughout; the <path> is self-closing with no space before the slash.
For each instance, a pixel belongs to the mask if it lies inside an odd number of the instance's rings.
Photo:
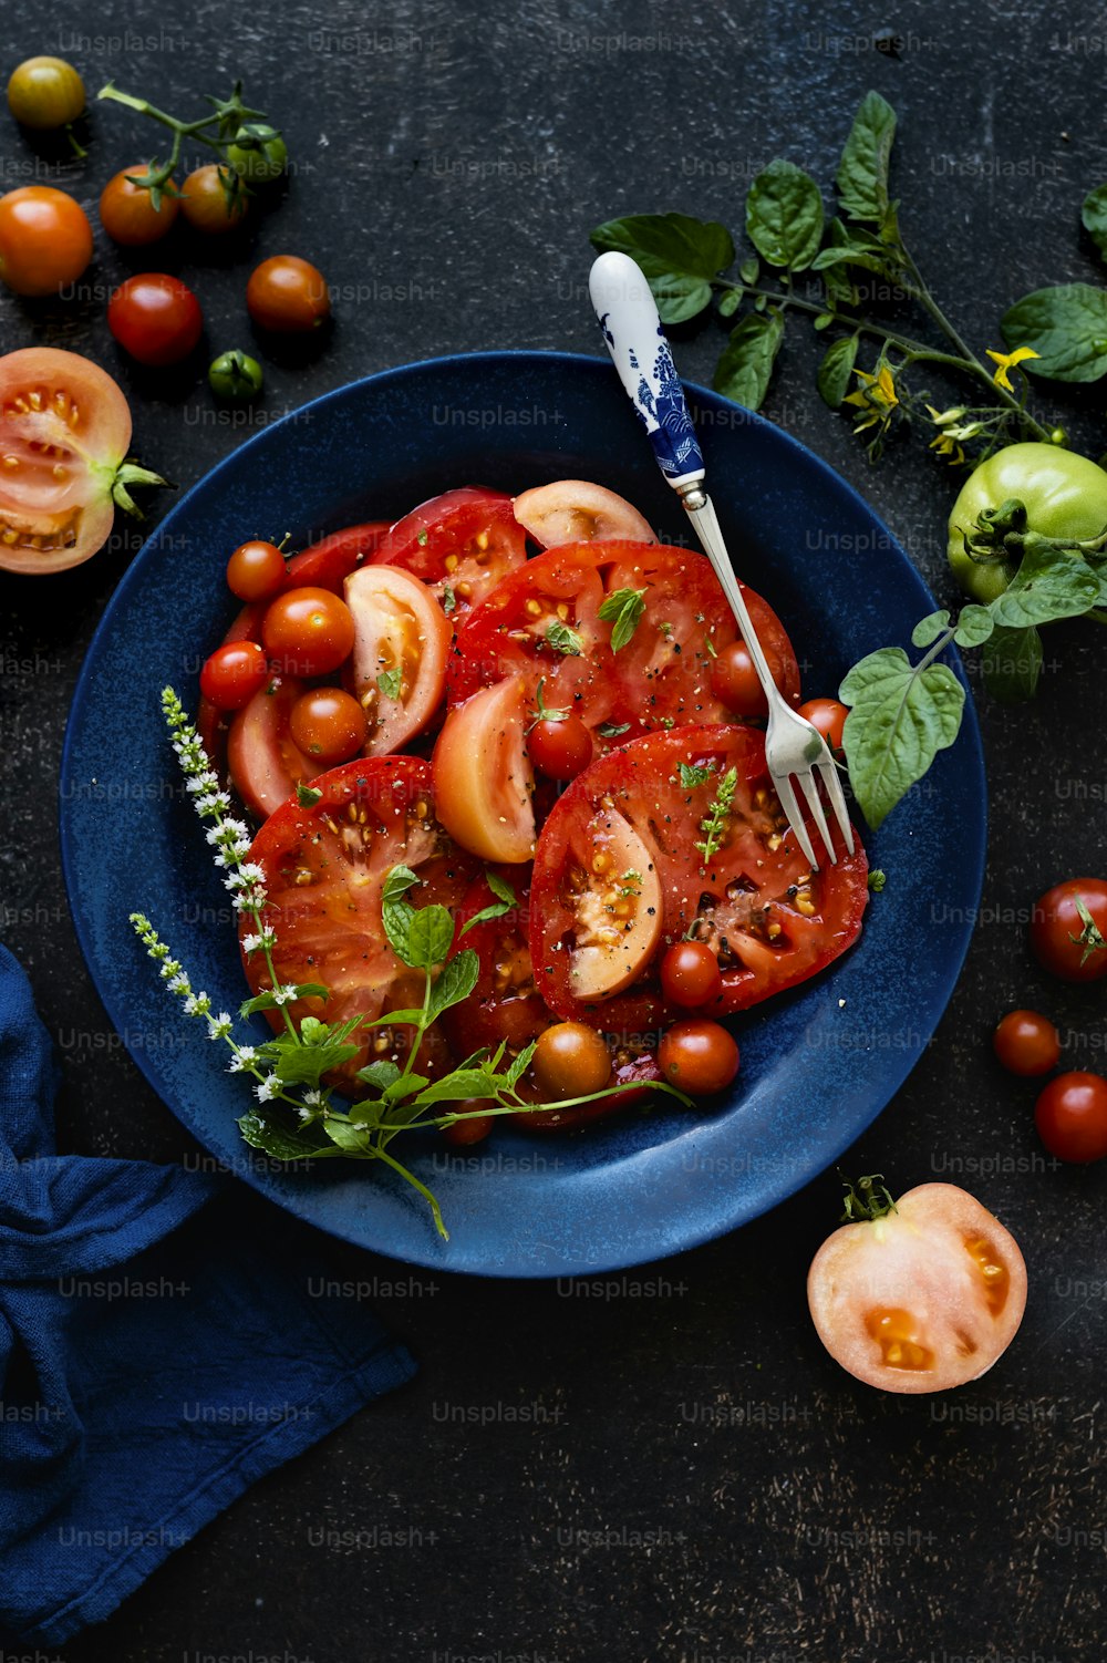
<path id="1" fill-rule="evenodd" d="M 434 813 L 430 768 L 412 757 L 344 762 L 316 778 L 322 797 L 311 808 L 291 797 L 254 838 L 251 860 L 266 878 L 263 923 L 276 931 L 274 966 L 283 983 L 321 983 L 329 998 L 298 999 L 293 1018 L 374 1019 L 422 1004 L 424 973 L 396 958 L 384 933 L 381 893 L 392 866 L 417 873 L 417 906 L 454 910 L 475 875 Z M 239 936 L 253 931 L 246 918 Z M 264 955 L 244 955 L 254 993 L 268 986 Z M 271 1013 L 279 1019 L 279 1011 Z M 274 1019 L 274 1028 L 279 1021 Z M 367 1056 L 404 1061 L 412 1029 L 374 1028 L 342 1074 Z M 419 1054 L 422 1073 L 449 1068 L 449 1049 L 434 1029 Z"/>

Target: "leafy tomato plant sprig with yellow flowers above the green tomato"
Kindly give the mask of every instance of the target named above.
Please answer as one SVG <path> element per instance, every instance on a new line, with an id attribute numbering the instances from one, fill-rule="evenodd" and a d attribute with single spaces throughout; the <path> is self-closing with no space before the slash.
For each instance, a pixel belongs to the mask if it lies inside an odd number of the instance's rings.
<path id="1" fill-rule="evenodd" d="M 932 449 L 952 462 L 987 456 L 1012 439 L 1064 444 L 1065 434 L 1044 426 L 1027 409 L 1021 364 L 1037 356 L 1027 346 L 977 354 L 962 339 L 929 289 L 899 229 L 899 203 L 888 188 L 896 111 L 869 91 L 863 100 L 836 175 L 841 218 L 826 223 L 816 181 L 791 161 L 770 161 L 746 193 L 745 229 L 755 254 L 738 278 L 726 276 L 735 241 L 718 221 L 690 215 L 630 215 L 592 231 L 597 249 L 620 249 L 637 259 L 663 323 L 685 323 L 715 298 L 720 318 L 738 318 L 715 369 L 718 392 L 758 409 L 790 313 L 813 318 L 814 328 L 843 329 L 818 371 L 818 391 L 831 409 L 854 406 L 854 431 L 868 434 L 876 461 L 899 422 L 922 421 L 936 431 Z M 763 276 L 766 269 L 766 276 Z M 816 274 L 814 298 L 796 293 L 801 273 Z M 919 341 L 891 323 L 864 316 L 864 286 L 884 284 L 888 298 L 916 303 L 942 336 Z M 741 308 L 750 303 L 746 311 Z M 741 316 L 740 316 L 741 314 Z M 878 344 L 873 369 L 858 369 L 863 339 Z M 994 369 L 984 363 L 991 358 Z M 936 409 L 931 394 L 913 386 L 914 371 L 932 366 L 987 391 L 987 402 Z M 1017 391 L 1011 369 L 1019 373 Z M 851 382 L 859 386 L 851 392 Z"/>

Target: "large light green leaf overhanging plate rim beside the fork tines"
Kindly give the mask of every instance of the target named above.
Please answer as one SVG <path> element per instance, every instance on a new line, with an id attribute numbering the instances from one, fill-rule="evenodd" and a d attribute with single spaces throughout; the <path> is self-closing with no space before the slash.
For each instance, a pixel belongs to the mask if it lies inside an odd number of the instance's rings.
<path id="1" fill-rule="evenodd" d="M 854 664 L 839 688 L 851 705 L 843 745 L 849 782 L 876 828 L 961 730 L 964 688 L 944 664 L 913 665 L 903 647 Z"/>

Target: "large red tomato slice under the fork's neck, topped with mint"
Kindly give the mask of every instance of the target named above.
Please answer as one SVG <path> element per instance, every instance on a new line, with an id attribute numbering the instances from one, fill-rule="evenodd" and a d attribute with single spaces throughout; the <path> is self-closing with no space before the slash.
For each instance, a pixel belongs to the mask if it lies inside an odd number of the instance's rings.
<path id="1" fill-rule="evenodd" d="M 617 594 L 638 614 L 612 647 L 615 619 L 600 609 Z M 771 607 L 743 590 L 758 635 L 780 664 L 781 690 L 800 698 L 800 669 Z M 612 604 L 615 604 L 612 600 Z M 537 712 L 570 710 L 592 733 L 593 755 L 657 728 L 726 722 L 711 692 L 711 662 L 736 624 L 708 560 L 688 549 L 642 542 L 577 542 L 529 560 L 462 624 L 454 642 L 450 705 L 505 677 L 522 680 Z M 617 637 L 618 639 L 618 637 Z"/>

